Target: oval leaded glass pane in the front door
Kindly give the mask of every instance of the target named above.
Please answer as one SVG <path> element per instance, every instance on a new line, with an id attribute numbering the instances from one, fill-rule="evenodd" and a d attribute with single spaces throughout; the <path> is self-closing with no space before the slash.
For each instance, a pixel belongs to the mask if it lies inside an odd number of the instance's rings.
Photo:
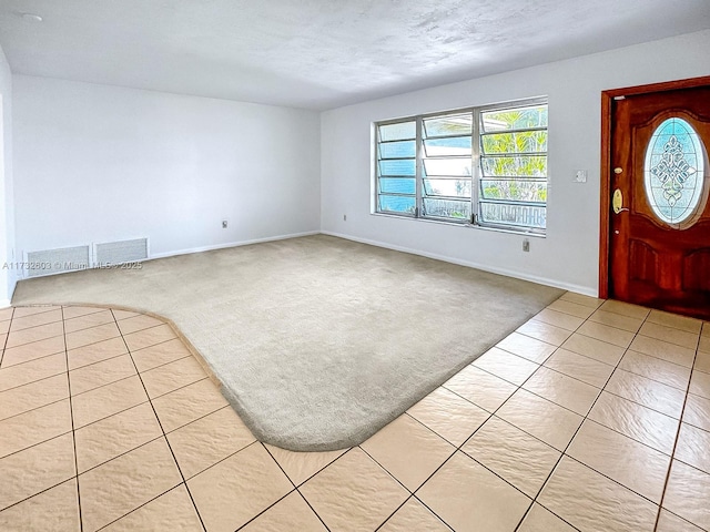
<path id="1" fill-rule="evenodd" d="M 646 149 L 646 195 L 653 213 L 680 227 L 698 212 L 704 183 L 702 141 L 683 119 L 663 121 Z"/>

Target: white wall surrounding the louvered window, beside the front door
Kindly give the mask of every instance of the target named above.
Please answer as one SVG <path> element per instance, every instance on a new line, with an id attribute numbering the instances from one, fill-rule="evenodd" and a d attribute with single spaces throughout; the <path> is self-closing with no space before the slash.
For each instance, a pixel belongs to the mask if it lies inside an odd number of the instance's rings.
<path id="1" fill-rule="evenodd" d="M 600 93 L 708 75 L 709 49 L 703 31 L 324 112 L 321 228 L 596 295 Z M 374 121 L 538 95 L 549 98 L 548 227 L 529 253 L 519 234 L 371 214 Z"/>

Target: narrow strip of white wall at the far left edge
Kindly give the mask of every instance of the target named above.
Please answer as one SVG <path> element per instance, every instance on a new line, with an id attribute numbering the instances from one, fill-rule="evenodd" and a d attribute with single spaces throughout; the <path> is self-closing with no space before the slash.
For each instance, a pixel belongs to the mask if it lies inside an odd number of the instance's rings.
<path id="1" fill-rule="evenodd" d="M 14 211 L 12 192 L 12 74 L 0 48 L 0 307 L 10 304 L 17 283 L 12 267 Z"/>

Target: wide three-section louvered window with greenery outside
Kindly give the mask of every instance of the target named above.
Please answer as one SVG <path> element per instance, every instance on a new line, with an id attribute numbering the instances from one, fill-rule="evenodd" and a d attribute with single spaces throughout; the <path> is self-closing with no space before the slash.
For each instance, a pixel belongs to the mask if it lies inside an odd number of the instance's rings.
<path id="1" fill-rule="evenodd" d="M 545 231 L 545 100 L 375 125 L 377 213 Z"/>

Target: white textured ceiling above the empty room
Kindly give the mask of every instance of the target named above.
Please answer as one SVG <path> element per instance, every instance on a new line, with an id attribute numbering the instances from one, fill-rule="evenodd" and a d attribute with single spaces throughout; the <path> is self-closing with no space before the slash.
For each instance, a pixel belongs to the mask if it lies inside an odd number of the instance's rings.
<path id="1" fill-rule="evenodd" d="M 707 28 L 709 0 L 0 0 L 16 73 L 316 110 Z"/>

